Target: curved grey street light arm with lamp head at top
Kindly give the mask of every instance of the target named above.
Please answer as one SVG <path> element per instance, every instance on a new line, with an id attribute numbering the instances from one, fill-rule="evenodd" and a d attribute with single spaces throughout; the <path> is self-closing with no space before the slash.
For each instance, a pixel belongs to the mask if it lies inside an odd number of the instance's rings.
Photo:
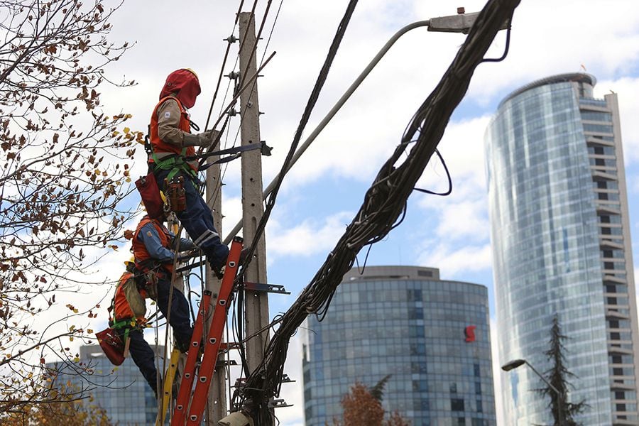
<path id="1" fill-rule="evenodd" d="M 429 28 L 429 31 L 468 33 L 470 27 L 474 23 L 478 14 L 479 13 L 466 13 L 466 14 L 458 14 L 454 16 L 442 16 L 439 18 L 433 18 L 432 20 L 429 19 L 427 21 L 417 21 L 417 22 L 408 24 L 407 26 L 401 28 L 397 33 L 395 33 L 393 37 L 391 37 L 386 42 L 386 44 L 383 45 L 383 48 L 381 48 L 381 50 L 377 53 L 377 55 L 375 55 L 375 58 L 373 58 L 373 60 L 371 60 L 371 62 L 369 62 L 368 65 L 366 65 L 366 68 L 364 68 L 364 71 L 361 72 L 361 74 L 359 75 L 359 77 L 356 78 L 353 84 L 351 84 L 350 87 L 346 89 L 346 92 L 342 94 L 342 97 L 339 98 L 337 103 L 334 105 L 334 107 L 332 107 L 332 109 L 328 112 L 328 114 L 324 116 L 324 119 L 320 121 L 320 124 L 318 124 L 315 130 L 312 131 L 312 133 L 310 133 L 310 135 L 306 138 L 304 143 L 302 143 L 302 145 L 300 145 L 300 147 L 297 148 L 297 151 L 295 151 L 295 154 L 293 155 L 293 158 L 290 164 L 288 165 L 288 168 L 283 170 L 283 172 L 278 173 L 278 175 L 276 175 L 275 178 L 273 178 L 271 183 L 268 184 L 268 186 L 266 187 L 266 190 L 263 191 L 262 200 L 266 200 L 266 197 L 268 197 L 268 195 L 270 195 L 271 192 L 273 192 L 273 189 L 275 189 L 275 184 L 276 182 L 278 182 L 280 175 L 282 173 L 288 173 L 288 170 L 290 170 L 290 168 L 293 167 L 293 164 L 295 164 L 295 162 L 297 162 L 300 156 L 302 156 L 302 154 L 307 150 L 307 148 L 310 146 L 312 141 L 315 141 L 315 138 L 317 138 L 320 132 L 324 130 L 324 127 L 326 127 L 329 121 L 331 121 L 332 118 L 335 116 L 335 114 L 337 114 L 337 111 L 339 111 L 339 109 L 342 109 L 346 101 L 349 99 L 349 97 L 351 97 L 351 94 L 353 94 L 355 90 L 357 89 L 357 87 L 359 87 L 361 82 L 363 82 L 364 79 L 368 77 L 368 74 L 371 73 L 371 71 L 378 64 L 381 58 L 383 58 L 383 56 L 386 55 L 388 50 L 391 49 L 393 44 L 395 44 L 395 42 L 402 35 L 404 35 L 405 33 L 408 33 L 408 31 L 413 30 L 415 28 L 430 26 L 431 21 L 435 21 L 435 20 L 437 20 L 437 27 L 432 29 Z M 231 242 L 231 239 L 233 239 L 233 237 L 238 234 L 240 229 L 242 229 L 241 220 L 234 226 L 233 229 L 231 229 L 231 232 L 226 235 L 226 238 L 224 239 L 224 244 L 229 244 Z"/>

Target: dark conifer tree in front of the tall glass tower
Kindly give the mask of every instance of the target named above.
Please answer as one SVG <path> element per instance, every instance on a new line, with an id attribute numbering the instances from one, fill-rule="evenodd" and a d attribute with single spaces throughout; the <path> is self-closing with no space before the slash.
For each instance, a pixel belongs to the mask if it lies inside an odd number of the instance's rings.
<path id="1" fill-rule="evenodd" d="M 548 407 L 552 412 L 552 418 L 555 420 L 553 426 L 581 426 L 581 424 L 574 421 L 574 416 L 586 410 L 588 404 L 586 404 L 585 400 L 581 400 L 579 403 L 568 402 L 567 395 L 569 388 L 574 389 L 572 383 L 569 382 L 569 378 L 577 378 L 577 376 L 571 373 L 566 366 L 566 356 L 564 355 L 566 351 L 564 341 L 566 339 L 568 339 L 568 337 L 562 334 L 559 317 L 555 314 L 555 317 L 552 318 L 552 327 L 550 328 L 549 349 L 545 351 L 545 355 L 548 361 L 550 361 L 551 367 L 545 371 L 544 375 L 561 395 L 558 395 L 557 392 L 549 386 L 537 389 L 536 391 L 550 397 Z M 564 414 L 563 424 L 560 421 L 560 411 Z"/>

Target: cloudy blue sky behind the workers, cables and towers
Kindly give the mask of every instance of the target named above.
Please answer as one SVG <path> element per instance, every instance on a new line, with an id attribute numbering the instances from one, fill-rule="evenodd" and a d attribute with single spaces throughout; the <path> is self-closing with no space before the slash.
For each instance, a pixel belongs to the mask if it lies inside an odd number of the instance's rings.
<path id="1" fill-rule="evenodd" d="M 264 42 L 279 4 L 273 3 Z M 395 31 L 413 21 L 454 14 L 457 6 L 445 0 L 361 1 L 305 134 L 310 134 Z M 464 6 L 466 11 L 479 11 L 484 1 L 469 0 Z M 293 140 L 345 7 L 345 1 L 283 3 L 266 52 L 275 50 L 277 54 L 258 81 L 260 109 L 265 113 L 261 116 L 261 136 L 274 148 L 273 156 L 263 158 L 265 185 L 278 172 Z M 236 8 L 234 1 L 190 1 L 178 8 L 175 2 L 144 0 L 121 6 L 113 22 L 113 38 L 136 44 L 111 67 L 111 77 L 118 80 L 126 76 L 138 84 L 129 89 L 103 89 L 103 108 L 109 113 L 133 114 L 128 125 L 146 130 L 166 75 L 180 67 L 191 67 L 202 82 L 202 94 L 192 109 L 192 118 L 203 126 L 226 48 L 222 39 L 231 33 Z M 261 8 L 263 5 L 258 7 L 258 16 L 263 13 Z M 452 195 L 435 197 L 415 192 L 410 197 L 405 221 L 373 246 L 368 265 L 435 267 L 440 268 L 444 279 L 486 285 L 494 320 L 484 177 L 486 125 L 498 102 L 514 89 L 548 75 L 584 69 L 598 80 L 597 97 L 610 90 L 619 95 L 631 232 L 636 240 L 639 236 L 636 201 L 639 123 L 635 119 L 639 114 L 639 103 L 635 101 L 639 92 L 638 12 L 639 4 L 632 0 L 523 0 L 515 11 L 508 58 L 480 65 L 476 70 L 468 95 L 439 146 L 452 175 Z M 237 30 L 234 32 L 237 35 Z M 505 33 L 498 35 L 489 56 L 501 55 L 504 36 Z M 271 297 L 271 315 L 287 310 L 322 264 L 359 209 L 364 192 L 395 148 L 415 109 L 435 87 L 464 37 L 417 29 L 401 38 L 290 171 L 268 225 L 266 244 L 269 282 L 285 285 L 292 295 Z M 258 58 L 263 47 L 264 43 Z M 226 67 L 225 74 L 231 70 L 236 48 L 237 45 L 231 48 L 231 65 Z M 223 89 L 227 82 L 223 80 Z M 221 107 L 222 103 L 217 102 L 214 111 Z M 238 123 L 235 119 L 234 126 Z M 229 136 L 231 143 L 234 134 Z M 142 175 L 143 170 L 146 170 L 145 156 L 139 149 L 132 175 Z M 222 234 L 241 215 L 239 164 L 226 170 L 225 183 L 222 212 L 226 218 Z M 437 160 L 425 170 L 420 187 L 435 190 L 447 187 L 444 170 Z M 128 256 L 127 250 L 114 252 L 99 269 L 119 271 L 120 262 Z M 360 253 L 360 262 L 364 256 L 365 253 Z M 119 272 L 109 278 L 116 279 L 116 275 Z M 106 312 L 96 320 L 94 328 L 98 329 L 105 321 Z M 285 388 L 283 398 L 295 403 L 295 407 L 277 413 L 285 426 L 303 424 L 297 339 L 291 347 L 287 373 L 297 379 L 297 384 Z M 497 365 L 496 357 L 493 352 Z M 499 373 L 493 371 L 495 376 Z"/>

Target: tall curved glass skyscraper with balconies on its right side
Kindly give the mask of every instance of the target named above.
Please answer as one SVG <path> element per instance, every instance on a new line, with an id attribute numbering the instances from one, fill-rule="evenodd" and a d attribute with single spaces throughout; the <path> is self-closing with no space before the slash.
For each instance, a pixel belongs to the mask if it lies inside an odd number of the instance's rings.
<path id="1" fill-rule="evenodd" d="M 616 94 L 587 74 L 504 99 L 486 131 L 499 359 L 550 368 L 557 314 L 584 425 L 639 425 L 637 307 Z M 547 424 L 530 368 L 501 373 L 508 425 Z"/>

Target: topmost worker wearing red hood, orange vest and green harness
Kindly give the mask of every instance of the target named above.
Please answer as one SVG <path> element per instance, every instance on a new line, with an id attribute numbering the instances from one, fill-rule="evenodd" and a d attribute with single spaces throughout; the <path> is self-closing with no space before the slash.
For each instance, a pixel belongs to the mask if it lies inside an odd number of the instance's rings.
<path id="1" fill-rule="evenodd" d="M 192 70 L 181 69 L 168 75 L 160 92 L 160 102 L 151 114 L 151 153 L 149 171 L 155 175 L 160 190 L 167 194 L 168 183 L 182 178 L 185 191 L 184 210 L 175 211 L 195 245 L 204 251 L 213 271 L 220 271 L 229 256 L 229 248 L 222 244 L 213 224 L 211 209 L 199 192 L 197 160 L 186 161 L 185 156 L 195 155 L 195 146 L 208 147 L 217 139 L 217 131 L 190 133 L 188 109 L 200 94 L 200 82 Z"/>

